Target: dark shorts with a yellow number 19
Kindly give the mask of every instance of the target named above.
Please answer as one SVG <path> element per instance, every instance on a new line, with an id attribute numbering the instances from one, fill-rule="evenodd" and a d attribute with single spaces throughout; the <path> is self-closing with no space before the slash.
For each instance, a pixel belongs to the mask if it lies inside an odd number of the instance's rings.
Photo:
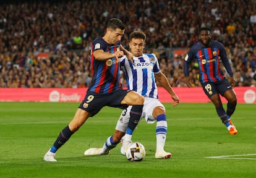
<path id="1" fill-rule="evenodd" d="M 217 93 L 223 96 L 226 91 L 233 89 L 232 85 L 228 82 L 226 78 L 224 78 L 220 82 L 202 83 L 202 87 L 203 91 L 205 91 L 205 94 L 208 96 L 208 98 L 211 98 L 211 96 Z"/>

